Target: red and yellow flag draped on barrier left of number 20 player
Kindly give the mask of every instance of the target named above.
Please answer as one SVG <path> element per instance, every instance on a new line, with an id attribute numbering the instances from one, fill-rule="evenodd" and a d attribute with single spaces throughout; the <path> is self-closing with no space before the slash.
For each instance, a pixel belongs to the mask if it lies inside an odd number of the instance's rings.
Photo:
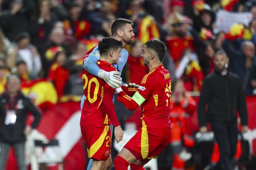
<path id="1" fill-rule="evenodd" d="M 40 108 L 49 108 L 58 101 L 58 95 L 52 82 L 46 79 L 37 79 L 22 84 L 21 91 L 33 99 Z"/>

